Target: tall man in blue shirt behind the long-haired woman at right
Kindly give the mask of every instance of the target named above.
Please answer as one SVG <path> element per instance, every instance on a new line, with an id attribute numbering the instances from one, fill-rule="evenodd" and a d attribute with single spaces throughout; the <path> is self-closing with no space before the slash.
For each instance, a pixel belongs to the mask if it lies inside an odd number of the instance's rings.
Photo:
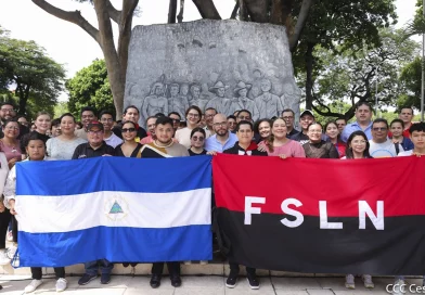
<path id="1" fill-rule="evenodd" d="M 363 131 L 368 139 L 372 139 L 372 106 L 361 102 L 356 106 L 356 121 L 348 124 L 340 136 L 344 142 L 347 142 L 350 134 L 357 130 Z"/>

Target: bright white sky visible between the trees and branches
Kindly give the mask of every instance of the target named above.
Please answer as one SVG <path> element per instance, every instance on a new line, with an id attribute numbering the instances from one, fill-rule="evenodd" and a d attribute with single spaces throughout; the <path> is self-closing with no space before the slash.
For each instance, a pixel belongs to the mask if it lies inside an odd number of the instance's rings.
<path id="1" fill-rule="evenodd" d="M 119 9 L 119 0 L 111 0 Z M 81 11 L 93 26 L 96 17 L 88 3 L 72 0 L 48 0 L 51 4 L 67 11 Z M 214 0 L 222 18 L 229 18 L 234 0 Z M 416 0 L 396 0 L 399 16 L 397 27 L 411 21 L 415 12 Z M 133 25 L 164 24 L 168 16 L 168 0 L 140 0 L 140 16 Z M 199 20 L 201 15 L 191 0 L 185 1 L 183 22 Z M 99 44 L 80 27 L 62 21 L 39 9 L 30 0 L 0 0 L 0 25 L 11 31 L 11 37 L 34 40 L 43 47 L 54 61 L 63 64 L 67 78 L 91 64 L 94 59 L 103 59 Z M 66 94 L 60 100 L 66 100 Z"/>

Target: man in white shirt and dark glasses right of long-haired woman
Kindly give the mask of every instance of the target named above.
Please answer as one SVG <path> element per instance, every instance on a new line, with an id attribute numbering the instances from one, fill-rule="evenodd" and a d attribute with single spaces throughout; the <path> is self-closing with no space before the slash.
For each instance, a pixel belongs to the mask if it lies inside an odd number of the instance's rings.
<path id="1" fill-rule="evenodd" d="M 372 124 L 372 139 L 369 141 L 369 153 L 372 157 L 397 156 L 396 145 L 388 139 L 388 121 L 383 118 L 375 119 Z M 404 152 L 399 146 L 400 152 Z"/>

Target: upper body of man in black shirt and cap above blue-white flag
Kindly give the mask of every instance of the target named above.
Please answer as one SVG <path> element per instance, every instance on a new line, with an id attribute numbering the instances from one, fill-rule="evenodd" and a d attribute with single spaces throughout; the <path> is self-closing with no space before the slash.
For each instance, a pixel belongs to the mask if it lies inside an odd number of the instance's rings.
<path id="1" fill-rule="evenodd" d="M 93 120 L 87 127 L 87 139 L 89 142 L 81 143 L 75 149 L 73 159 L 115 155 L 114 148 L 107 145 L 103 141 L 103 125 L 100 121 Z"/>

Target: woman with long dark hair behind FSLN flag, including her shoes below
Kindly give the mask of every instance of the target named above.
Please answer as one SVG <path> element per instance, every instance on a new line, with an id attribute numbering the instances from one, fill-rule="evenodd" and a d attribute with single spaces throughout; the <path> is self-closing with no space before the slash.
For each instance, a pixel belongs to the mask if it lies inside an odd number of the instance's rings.
<path id="1" fill-rule="evenodd" d="M 372 158 L 369 154 L 369 140 L 366 134 L 363 131 L 355 131 L 350 134 L 347 140 L 347 150 L 346 156 L 342 157 L 342 159 L 358 159 L 358 158 Z M 362 274 L 362 280 L 364 286 L 366 288 L 373 288 L 375 285 L 372 281 L 371 274 Z M 355 275 L 349 273 L 346 275 L 346 283 L 347 288 L 356 288 L 355 284 Z"/>

